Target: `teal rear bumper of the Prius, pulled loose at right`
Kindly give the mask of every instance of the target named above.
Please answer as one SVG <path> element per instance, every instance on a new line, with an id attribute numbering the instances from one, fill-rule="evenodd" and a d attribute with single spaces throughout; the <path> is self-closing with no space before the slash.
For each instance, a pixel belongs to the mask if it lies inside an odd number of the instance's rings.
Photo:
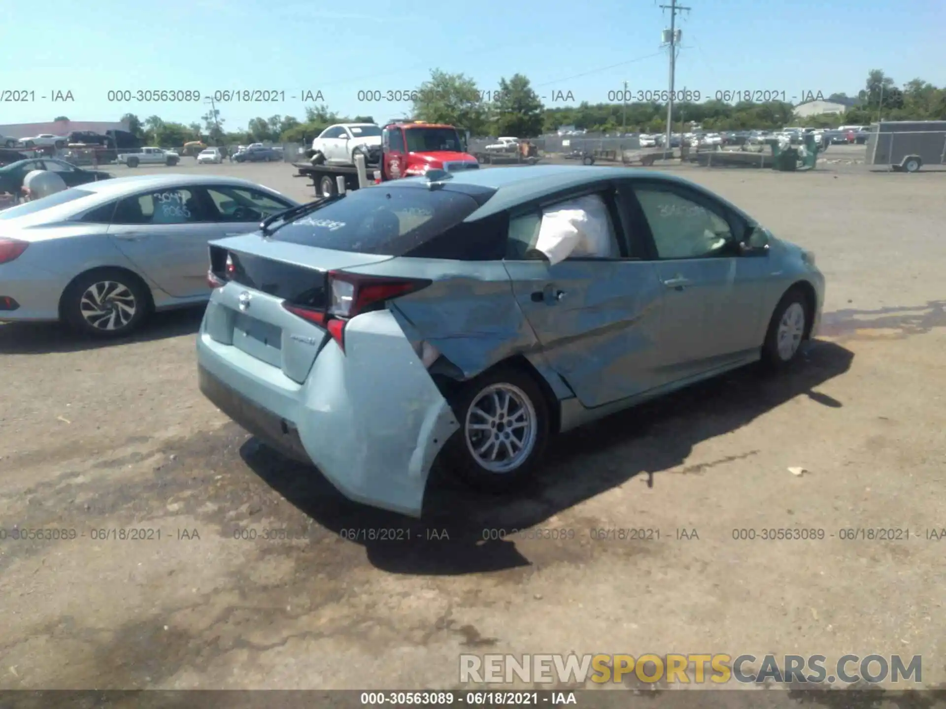
<path id="1" fill-rule="evenodd" d="M 237 424 L 314 463 L 349 499 L 420 516 L 430 466 L 459 424 L 390 312 L 351 320 L 345 352 L 329 339 L 305 384 L 214 340 L 206 322 L 197 355 L 201 391 Z"/>

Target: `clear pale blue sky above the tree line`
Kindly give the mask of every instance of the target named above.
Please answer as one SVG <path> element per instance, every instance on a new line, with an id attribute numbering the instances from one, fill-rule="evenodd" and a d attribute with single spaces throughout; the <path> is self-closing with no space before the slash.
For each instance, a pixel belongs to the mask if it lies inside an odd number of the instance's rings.
<path id="1" fill-rule="evenodd" d="M 383 121 L 410 103 L 363 102 L 358 92 L 411 90 L 429 70 L 463 72 L 482 91 L 519 72 L 549 106 L 552 92 L 605 101 L 667 88 L 660 31 L 669 0 L 597 2 L 325 3 L 271 0 L 10 0 L 0 12 L 0 91 L 36 99 L 0 103 L 0 124 L 142 120 L 190 123 L 198 103 L 110 102 L 109 90 L 275 90 L 277 103 L 219 105 L 226 130 L 275 113 L 304 119 L 302 91 L 321 91 L 331 110 Z M 677 88 L 855 95 L 867 71 L 898 84 L 946 84 L 944 0 L 684 0 Z M 51 24 L 50 24 L 51 23 Z M 54 103 L 53 91 L 73 102 Z M 42 98 L 41 96 L 47 96 Z M 295 98 L 292 98 L 295 96 Z M 780 96 L 781 97 L 781 96 Z"/>

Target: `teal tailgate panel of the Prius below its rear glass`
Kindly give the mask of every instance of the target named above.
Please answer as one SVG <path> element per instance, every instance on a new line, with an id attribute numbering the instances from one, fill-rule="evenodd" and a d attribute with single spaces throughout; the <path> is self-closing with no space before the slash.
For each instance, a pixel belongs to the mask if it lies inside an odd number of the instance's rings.
<path id="1" fill-rule="evenodd" d="M 258 233 L 211 242 L 211 271 L 226 285 L 211 298 L 205 331 L 302 383 L 329 336 L 323 326 L 292 314 L 283 303 L 324 308 L 329 270 L 390 258 L 272 242 Z"/>

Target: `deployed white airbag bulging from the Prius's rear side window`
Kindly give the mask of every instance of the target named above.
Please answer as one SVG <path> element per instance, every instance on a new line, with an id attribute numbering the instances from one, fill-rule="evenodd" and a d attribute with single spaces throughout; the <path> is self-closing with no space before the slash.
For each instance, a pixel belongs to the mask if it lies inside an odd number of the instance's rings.
<path id="1" fill-rule="evenodd" d="M 617 258 L 604 199 L 587 195 L 543 210 L 535 250 L 545 255 L 551 266 L 569 256 Z"/>

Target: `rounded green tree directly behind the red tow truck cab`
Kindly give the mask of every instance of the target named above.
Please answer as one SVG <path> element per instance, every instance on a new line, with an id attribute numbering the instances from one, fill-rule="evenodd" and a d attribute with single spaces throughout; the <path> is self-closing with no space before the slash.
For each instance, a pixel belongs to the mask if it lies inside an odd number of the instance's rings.
<path id="1" fill-rule="evenodd" d="M 429 80 L 417 89 L 413 116 L 416 120 L 447 123 L 460 130 L 469 130 L 473 135 L 482 135 L 488 112 L 476 81 L 464 74 L 447 74 L 434 69 Z"/>

